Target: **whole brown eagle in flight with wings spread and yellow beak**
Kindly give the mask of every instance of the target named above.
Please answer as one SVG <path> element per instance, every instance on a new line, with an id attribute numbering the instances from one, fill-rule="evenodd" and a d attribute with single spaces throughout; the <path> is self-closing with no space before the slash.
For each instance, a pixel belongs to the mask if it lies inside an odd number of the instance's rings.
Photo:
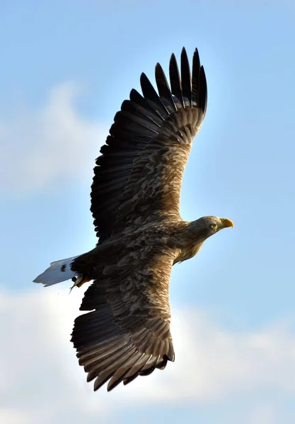
<path id="1" fill-rule="evenodd" d="M 170 86 L 156 64 L 156 86 L 144 73 L 142 95 L 122 103 L 91 186 L 91 212 L 98 237 L 94 249 L 55 261 L 35 278 L 46 287 L 72 279 L 84 293 L 71 334 L 79 364 L 108 391 L 174 361 L 170 334 L 172 266 L 199 252 L 228 218 L 180 218 L 183 172 L 207 107 L 207 82 L 197 49 L 192 73 L 187 52 L 169 66 Z"/>

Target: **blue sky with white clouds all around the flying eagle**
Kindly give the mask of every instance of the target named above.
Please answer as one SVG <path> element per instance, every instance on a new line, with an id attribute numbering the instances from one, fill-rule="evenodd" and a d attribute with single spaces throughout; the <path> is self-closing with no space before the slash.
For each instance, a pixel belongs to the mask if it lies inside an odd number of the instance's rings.
<path id="1" fill-rule="evenodd" d="M 69 342 L 83 290 L 32 281 L 95 245 L 115 112 L 183 46 L 209 99 L 182 216 L 235 227 L 173 268 L 175 363 L 93 393 Z M 294 1 L 0 0 L 0 54 L 1 423 L 294 423 Z"/>

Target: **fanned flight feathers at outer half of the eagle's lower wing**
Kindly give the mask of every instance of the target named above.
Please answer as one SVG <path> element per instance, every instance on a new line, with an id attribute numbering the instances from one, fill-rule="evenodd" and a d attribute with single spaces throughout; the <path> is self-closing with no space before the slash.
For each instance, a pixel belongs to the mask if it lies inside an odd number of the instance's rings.
<path id="1" fill-rule="evenodd" d="M 120 382 L 128 384 L 156 368 L 163 370 L 168 360 L 174 360 L 169 323 L 158 318 L 149 324 L 151 328 L 138 331 L 132 331 L 132 326 L 129 331 L 122 329 L 106 303 L 76 318 L 71 341 L 79 365 L 88 373 L 87 381 L 95 379 L 94 390 L 110 380 L 110 391 Z"/>

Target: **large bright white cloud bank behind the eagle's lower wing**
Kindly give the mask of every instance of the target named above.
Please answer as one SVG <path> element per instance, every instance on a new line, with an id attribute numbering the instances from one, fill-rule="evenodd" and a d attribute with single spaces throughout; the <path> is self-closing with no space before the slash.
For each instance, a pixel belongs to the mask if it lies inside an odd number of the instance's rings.
<path id="1" fill-rule="evenodd" d="M 22 295 L 0 294 L 1 422 L 59 424 L 64 416 L 89 422 L 98 413 L 100 419 L 112 416 L 114 402 L 117 408 L 134 402 L 218 404 L 239 393 L 259 399 L 264 389 L 295 394 L 295 334 L 287 322 L 238 333 L 204 312 L 184 310 L 173 311 L 175 363 L 110 394 L 104 387 L 93 393 L 69 342 L 81 292 L 36 287 Z M 265 401 L 251 414 L 241 422 L 277 422 Z"/>

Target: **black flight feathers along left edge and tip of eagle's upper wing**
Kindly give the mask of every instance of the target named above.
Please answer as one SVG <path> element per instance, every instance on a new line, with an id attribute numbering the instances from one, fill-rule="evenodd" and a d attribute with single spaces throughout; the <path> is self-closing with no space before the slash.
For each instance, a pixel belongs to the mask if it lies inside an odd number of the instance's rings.
<path id="1" fill-rule="evenodd" d="M 207 82 L 197 49 L 192 59 L 192 78 L 187 53 L 183 48 L 181 69 L 172 54 L 169 66 L 170 86 L 160 64 L 156 65 L 158 93 L 144 73 L 141 90 L 132 90 L 130 100 L 122 103 L 110 129 L 110 136 L 100 150 L 94 168 L 91 188 L 91 211 L 100 242 L 112 234 L 117 211 L 122 201 L 134 160 L 144 154 L 146 146 L 161 133 L 166 120 L 180 108 L 197 107 L 201 113 L 196 121 L 199 128 L 207 108 Z M 181 78 L 180 78 L 181 74 Z"/>

